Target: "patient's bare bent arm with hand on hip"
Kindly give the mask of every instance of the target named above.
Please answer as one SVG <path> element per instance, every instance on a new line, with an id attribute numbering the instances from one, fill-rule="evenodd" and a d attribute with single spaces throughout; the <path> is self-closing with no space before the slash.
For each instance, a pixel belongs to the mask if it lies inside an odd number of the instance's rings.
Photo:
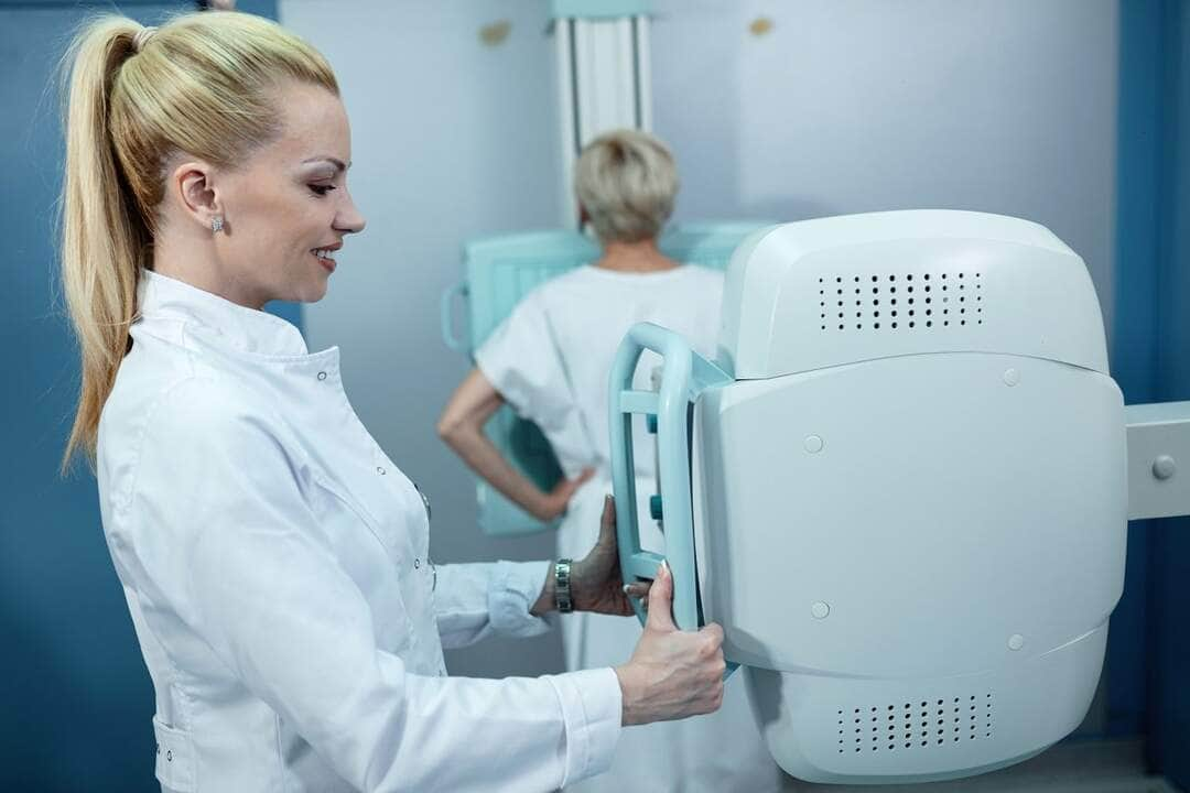
<path id="1" fill-rule="evenodd" d="M 500 392 L 477 369 L 468 373 L 438 418 L 438 435 L 493 487 L 540 521 L 565 511 L 575 491 L 590 477 L 590 468 L 574 479 L 563 479 L 544 492 L 505 459 L 483 434 L 483 426 L 505 403 Z"/>

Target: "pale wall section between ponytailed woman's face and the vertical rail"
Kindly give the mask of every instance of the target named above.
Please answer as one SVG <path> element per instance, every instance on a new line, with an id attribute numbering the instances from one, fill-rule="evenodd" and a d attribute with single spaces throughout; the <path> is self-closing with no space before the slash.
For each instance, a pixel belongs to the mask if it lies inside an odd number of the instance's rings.
<path id="1" fill-rule="evenodd" d="M 282 24 L 331 61 L 352 125 L 349 184 L 368 229 L 306 309 L 312 350 L 339 345 L 359 417 L 433 504 L 436 561 L 547 559 L 552 537 L 489 540 L 470 474 L 434 434 L 468 361 L 443 345 L 438 297 L 464 239 L 557 222 L 552 39 L 544 2 L 281 0 Z M 500 45 L 484 25 L 508 20 Z M 558 671 L 556 636 L 450 653 L 455 674 Z"/>

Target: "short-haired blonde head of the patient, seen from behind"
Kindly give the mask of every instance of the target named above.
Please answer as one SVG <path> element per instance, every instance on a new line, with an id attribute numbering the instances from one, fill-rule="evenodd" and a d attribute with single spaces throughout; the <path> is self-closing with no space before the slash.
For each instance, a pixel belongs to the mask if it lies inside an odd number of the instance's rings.
<path id="1" fill-rule="evenodd" d="M 677 195 L 670 150 L 639 130 L 607 132 L 583 149 L 575 190 L 603 243 L 638 243 L 659 233 Z"/>

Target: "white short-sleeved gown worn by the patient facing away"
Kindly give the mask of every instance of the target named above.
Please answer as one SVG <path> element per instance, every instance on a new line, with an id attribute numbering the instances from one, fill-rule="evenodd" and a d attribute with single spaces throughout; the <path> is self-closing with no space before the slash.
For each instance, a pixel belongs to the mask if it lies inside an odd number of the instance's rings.
<path id="1" fill-rule="evenodd" d="M 654 322 L 683 335 L 713 358 L 722 302 L 721 273 L 682 265 L 650 273 L 578 268 L 549 281 L 518 304 L 476 352 L 476 365 L 516 413 L 544 432 L 563 471 L 595 477 L 571 499 L 558 530 L 558 555 L 581 556 L 595 542 L 603 495 L 610 492 L 608 375 L 615 352 L 637 322 Z M 650 388 L 659 363 L 645 353 L 634 388 Z M 649 518 L 656 492 L 656 451 L 641 416 L 633 418 L 641 546 L 663 550 Z M 562 622 L 569 669 L 624 663 L 640 638 L 634 618 L 582 613 Z M 663 793 L 768 793 L 784 779 L 764 745 L 739 679 L 728 680 L 719 712 L 660 722 L 626 731 L 610 770 L 571 789 Z"/>

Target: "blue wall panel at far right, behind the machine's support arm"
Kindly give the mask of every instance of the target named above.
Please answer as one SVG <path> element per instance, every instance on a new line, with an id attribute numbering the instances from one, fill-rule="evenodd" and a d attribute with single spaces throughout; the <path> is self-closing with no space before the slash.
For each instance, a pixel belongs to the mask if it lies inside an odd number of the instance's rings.
<path id="1" fill-rule="evenodd" d="M 1190 399 L 1190 4 L 1129 0 L 1120 13 L 1111 366 L 1128 402 Z M 1111 728 L 1134 731 L 1142 703 L 1150 764 L 1190 788 L 1190 521 L 1130 524 L 1128 555 L 1109 653 Z"/>

